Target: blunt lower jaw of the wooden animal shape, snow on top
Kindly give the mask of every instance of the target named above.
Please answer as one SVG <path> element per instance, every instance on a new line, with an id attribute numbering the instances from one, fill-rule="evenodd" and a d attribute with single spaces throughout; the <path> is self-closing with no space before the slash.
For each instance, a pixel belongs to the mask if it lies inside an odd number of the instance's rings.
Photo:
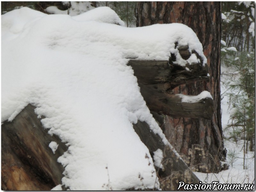
<path id="1" fill-rule="evenodd" d="M 150 111 L 176 118 L 190 117 L 211 120 L 213 116 L 212 98 L 203 98 L 194 103 L 181 102 L 175 94 L 162 92 L 160 86 L 140 84 L 140 93 Z M 160 88 L 159 88 L 160 87 Z M 189 96 L 188 96 L 189 97 Z"/>

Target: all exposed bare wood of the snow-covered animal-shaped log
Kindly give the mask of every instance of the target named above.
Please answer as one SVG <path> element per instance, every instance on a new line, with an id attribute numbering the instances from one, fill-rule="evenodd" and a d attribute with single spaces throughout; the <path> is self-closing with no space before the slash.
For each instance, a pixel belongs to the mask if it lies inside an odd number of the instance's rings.
<path id="1" fill-rule="evenodd" d="M 207 68 L 200 64 L 182 67 L 168 61 L 130 60 L 128 65 L 133 68 L 141 94 L 151 111 L 174 117 L 212 117 L 211 98 L 182 102 L 179 95 L 169 93 L 169 90 L 186 82 L 207 81 Z M 34 109 L 29 104 L 12 122 L 2 124 L 3 190 L 50 190 L 61 184 L 64 168 L 57 159 L 67 150 L 67 146 L 56 135 L 52 137 L 47 133 Z M 165 145 L 147 123 L 139 121 L 133 128 L 148 147 L 152 158 L 157 149 L 164 153 L 164 168 L 155 166 L 162 189 L 176 190 L 181 180 L 199 183 L 179 155 Z M 55 154 L 49 148 L 52 141 L 59 144 Z"/>

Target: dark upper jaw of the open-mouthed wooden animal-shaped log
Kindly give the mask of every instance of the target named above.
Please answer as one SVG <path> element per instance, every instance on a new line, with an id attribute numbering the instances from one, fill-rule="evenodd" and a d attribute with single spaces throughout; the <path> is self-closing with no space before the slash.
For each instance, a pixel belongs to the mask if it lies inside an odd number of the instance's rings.
<path id="1" fill-rule="evenodd" d="M 180 66 L 169 64 L 169 61 L 164 60 L 129 60 L 127 65 L 132 66 L 139 84 L 168 83 L 167 90 L 181 84 L 209 81 L 207 66 L 202 66 L 200 63 Z"/>

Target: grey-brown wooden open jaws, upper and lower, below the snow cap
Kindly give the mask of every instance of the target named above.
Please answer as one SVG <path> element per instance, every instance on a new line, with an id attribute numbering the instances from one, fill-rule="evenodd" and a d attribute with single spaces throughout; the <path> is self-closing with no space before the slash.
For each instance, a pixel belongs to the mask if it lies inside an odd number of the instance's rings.
<path id="1" fill-rule="evenodd" d="M 181 102 L 179 96 L 168 93 L 178 84 L 208 79 L 205 67 L 200 64 L 188 65 L 188 71 L 186 67 L 170 65 L 168 61 L 152 60 L 130 60 L 128 65 L 134 70 L 140 93 L 150 111 L 174 117 L 212 118 L 212 99 L 185 103 Z"/>

